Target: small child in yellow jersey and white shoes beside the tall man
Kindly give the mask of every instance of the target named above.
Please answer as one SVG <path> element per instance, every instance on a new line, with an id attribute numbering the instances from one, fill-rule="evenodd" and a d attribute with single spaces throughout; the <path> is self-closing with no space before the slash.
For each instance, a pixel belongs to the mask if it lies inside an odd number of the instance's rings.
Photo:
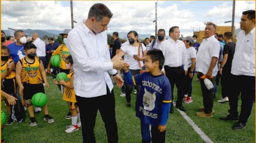
<path id="1" fill-rule="evenodd" d="M 73 69 L 73 59 L 69 55 L 68 57 L 65 58 L 66 61 L 66 67 L 70 69 L 69 74 L 67 75 L 68 80 L 60 80 L 59 82 L 54 79 L 53 83 L 56 85 L 63 85 L 64 87 L 64 93 L 63 93 L 63 100 L 68 101 L 69 104 L 69 109 L 71 111 L 71 120 L 72 120 L 72 125 L 67 126 L 65 132 L 66 133 L 71 133 L 74 131 L 78 130 L 78 127 L 81 126 L 81 121 L 80 121 L 80 114 L 79 114 L 79 108 L 76 104 L 76 97 L 75 97 L 75 91 L 74 91 L 74 69 Z M 79 119 L 79 122 L 77 122 L 77 119 Z"/>

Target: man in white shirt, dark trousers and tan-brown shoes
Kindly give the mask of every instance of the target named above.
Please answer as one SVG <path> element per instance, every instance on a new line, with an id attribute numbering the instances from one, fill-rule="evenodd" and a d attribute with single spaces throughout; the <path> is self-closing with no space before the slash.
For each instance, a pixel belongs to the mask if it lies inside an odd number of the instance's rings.
<path id="1" fill-rule="evenodd" d="M 220 52 L 220 44 L 214 37 L 215 32 L 216 26 L 213 23 L 208 23 L 204 29 L 205 39 L 199 46 L 196 57 L 196 71 L 198 77 L 205 75 L 213 85 L 215 84 L 215 77 L 218 72 L 217 61 Z M 197 112 L 196 115 L 202 118 L 213 117 L 213 88 L 208 90 L 204 84 L 204 79 L 200 79 L 200 84 L 204 108 L 200 107 L 202 111 Z"/>

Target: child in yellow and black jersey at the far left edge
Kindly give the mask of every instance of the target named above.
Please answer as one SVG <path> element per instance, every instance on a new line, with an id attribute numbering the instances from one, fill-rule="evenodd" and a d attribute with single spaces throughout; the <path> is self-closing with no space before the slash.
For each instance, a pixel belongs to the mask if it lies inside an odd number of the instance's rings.
<path id="1" fill-rule="evenodd" d="M 1 89 L 5 93 L 15 97 L 16 96 L 16 82 L 15 82 L 15 64 L 14 61 L 9 59 L 10 50 L 6 46 L 1 46 L 1 73 L 7 71 L 7 76 L 1 82 Z M 7 63 L 10 63 L 11 66 L 9 69 L 6 68 Z M 5 123 L 5 125 L 11 125 L 14 120 L 11 118 L 11 105 L 8 104 L 6 98 L 2 97 L 2 101 L 5 101 L 6 108 L 9 114 L 9 120 Z"/>

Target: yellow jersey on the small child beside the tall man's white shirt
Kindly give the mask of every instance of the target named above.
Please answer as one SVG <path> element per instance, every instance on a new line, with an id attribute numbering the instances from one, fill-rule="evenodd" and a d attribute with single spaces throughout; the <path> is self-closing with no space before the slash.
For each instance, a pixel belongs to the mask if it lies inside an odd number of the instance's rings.
<path id="1" fill-rule="evenodd" d="M 74 74 L 74 71 L 72 71 L 71 73 L 69 73 L 67 75 L 67 79 L 68 79 L 67 83 L 68 84 L 70 84 L 71 76 L 73 74 Z M 69 102 L 76 102 L 74 89 L 70 89 L 70 88 L 64 87 L 63 100 L 64 101 L 69 101 Z"/>

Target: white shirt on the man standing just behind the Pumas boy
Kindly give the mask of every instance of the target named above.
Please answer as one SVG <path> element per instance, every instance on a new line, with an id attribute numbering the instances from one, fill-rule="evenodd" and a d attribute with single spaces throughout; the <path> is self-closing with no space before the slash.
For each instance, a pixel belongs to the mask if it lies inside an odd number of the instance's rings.
<path id="1" fill-rule="evenodd" d="M 169 38 L 161 43 L 160 50 L 162 50 L 165 57 L 164 65 L 179 67 L 184 64 L 184 70 L 188 69 L 187 52 L 184 42 L 181 40 L 175 42 Z"/>

